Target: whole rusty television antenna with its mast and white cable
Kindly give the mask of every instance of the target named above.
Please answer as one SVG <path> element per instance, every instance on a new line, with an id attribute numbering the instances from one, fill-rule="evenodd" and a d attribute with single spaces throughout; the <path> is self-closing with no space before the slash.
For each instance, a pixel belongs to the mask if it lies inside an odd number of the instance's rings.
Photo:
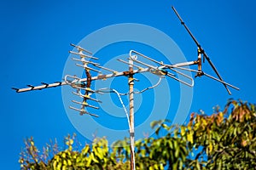
<path id="1" fill-rule="evenodd" d="M 181 19 L 180 15 L 177 13 L 177 10 L 172 7 L 173 11 L 175 14 L 177 14 L 178 19 L 181 21 L 182 25 L 185 27 L 185 29 L 189 32 L 189 35 L 192 37 L 192 39 L 195 41 L 197 48 L 198 48 L 198 56 L 197 59 L 194 61 L 188 61 L 188 62 L 182 62 L 182 63 L 177 63 L 174 65 L 171 64 L 166 64 L 162 61 L 158 61 L 155 59 L 152 59 L 144 54 L 141 54 L 135 50 L 131 50 L 129 54 L 128 61 L 123 60 L 123 59 L 118 59 L 119 62 L 124 63 L 125 65 L 128 65 L 128 71 L 114 71 L 112 69 L 109 69 L 107 67 L 104 67 L 100 65 L 99 63 L 96 63 L 95 61 L 90 61 L 90 59 L 98 59 L 93 54 L 80 47 L 79 45 L 75 45 L 71 43 L 70 45 L 73 46 L 73 48 L 76 49 L 76 51 L 69 51 L 70 54 L 75 54 L 76 56 L 79 56 L 79 58 L 72 58 L 74 61 L 77 61 L 79 63 L 76 63 L 77 66 L 82 67 L 85 72 L 86 77 L 77 77 L 77 76 L 71 76 L 71 75 L 66 75 L 64 77 L 64 81 L 62 82 L 53 82 L 53 83 L 46 83 L 46 82 L 41 82 L 41 85 L 38 86 L 32 86 L 32 85 L 27 85 L 27 88 L 13 88 L 17 93 L 22 93 L 22 92 L 28 92 L 28 91 L 33 91 L 33 90 L 42 90 L 44 88 L 55 88 L 59 86 L 64 86 L 64 85 L 69 85 L 72 87 L 75 91 L 73 91 L 74 95 L 79 96 L 82 100 L 77 101 L 77 100 L 72 100 L 74 104 L 80 105 L 80 108 L 74 107 L 74 106 L 69 106 L 70 109 L 74 111 L 79 111 L 80 115 L 90 115 L 90 116 L 96 116 L 95 113 L 90 113 L 89 111 L 86 110 L 86 108 L 90 107 L 93 109 L 99 109 L 96 105 L 89 104 L 90 102 L 96 102 L 96 103 L 102 103 L 101 100 L 95 99 L 90 97 L 91 94 L 105 94 L 105 93 L 115 93 L 118 95 L 120 103 L 123 105 L 127 120 L 128 120 L 128 125 L 129 125 L 129 132 L 130 132 L 130 140 L 131 140 L 131 170 L 135 169 L 135 155 L 134 155 L 134 94 L 141 94 L 145 92 L 148 89 L 155 88 L 157 87 L 162 78 L 165 77 L 171 77 L 172 79 L 176 80 L 177 82 L 183 83 L 186 86 L 189 87 L 194 87 L 194 79 L 193 77 L 189 77 L 187 74 L 184 74 L 182 71 L 192 71 L 195 72 L 195 77 L 201 77 L 201 76 L 207 76 L 212 78 L 215 81 L 221 82 L 224 84 L 224 88 L 227 89 L 228 93 L 230 93 L 230 88 L 235 88 L 236 90 L 239 90 L 239 88 L 236 88 L 235 86 L 231 85 L 230 83 L 224 82 L 222 77 L 220 77 L 216 67 L 213 65 L 211 59 L 208 57 L 206 52 L 204 51 L 203 48 L 201 48 L 201 45 L 191 31 L 189 31 L 188 26 L 186 26 Z M 215 71 L 217 74 L 218 78 L 212 77 L 211 75 L 205 73 L 202 71 L 202 62 L 201 58 L 203 57 L 204 59 L 207 59 L 208 63 L 212 66 L 212 70 Z M 148 62 L 150 61 L 150 64 L 148 64 L 145 61 L 142 61 L 141 59 L 146 59 Z M 152 65 L 152 62 L 155 65 Z M 136 64 L 134 64 L 136 63 Z M 193 70 L 188 68 L 188 66 L 192 65 L 197 65 L 197 70 Z M 99 70 L 100 69 L 100 70 Z M 182 70 L 182 71 L 179 71 Z M 102 71 L 107 71 L 107 73 L 103 73 Z M 96 72 L 96 76 L 92 77 L 91 72 Z M 138 81 L 134 75 L 143 73 L 143 72 L 150 72 L 157 77 L 159 77 L 159 81 L 154 84 L 151 87 L 144 88 L 143 90 L 139 92 L 135 92 L 133 87 L 134 87 L 134 81 Z M 177 77 L 178 75 L 178 77 Z M 115 89 L 112 88 L 101 88 L 101 89 L 91 89 L 91 83 L 96 80 L 105 80 L 108 78 L 113 78 L 113 77 L 128 77 L 128 84 L 129 84 L 129 92 L 126 94 L 119 94 Z M 181 78 L 182 77 L 182 78 Z M 129 95 L 129 108 L 130 108 L 130 113 L 128 115 L 125 105 L 123 104 L 123 101 L 120 97 L 120 95 Z"/>

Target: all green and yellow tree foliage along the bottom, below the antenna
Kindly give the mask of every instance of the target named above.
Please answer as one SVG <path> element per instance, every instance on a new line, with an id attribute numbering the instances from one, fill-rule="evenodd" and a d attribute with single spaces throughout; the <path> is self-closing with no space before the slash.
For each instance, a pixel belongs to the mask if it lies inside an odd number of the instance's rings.
<path id="1" fill-rule="evenodd" d="M 255 105 L 230 100 L 210 116 L 192 113 L 187 125 L 164 120 L 151 127 L 155 138 L 136 141 L 137 169 L 256 169 Z M 111 147 L 107 139 L 95 139 L 80 150 L 75 141 L 75 135 L 67 136 L 63 150 L 51 141 L 40 153 L 34 140 L 26 139 L 21 169 L 130 169 L 128 139 Z"/>

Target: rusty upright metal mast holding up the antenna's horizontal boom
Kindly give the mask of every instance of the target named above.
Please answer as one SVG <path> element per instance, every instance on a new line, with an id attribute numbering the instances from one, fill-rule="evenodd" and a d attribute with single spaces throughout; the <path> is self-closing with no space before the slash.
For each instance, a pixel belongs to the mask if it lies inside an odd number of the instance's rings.
<path id="1" fill-rule="evenodd" d="M 130 107 L 130 140 L 131 140 L 131 170 L 135 169 L 135 155 L 134 155 L 134 99 L 133 99 L 133 86 L 134 86 L 134 79 L 133 79 L 133 61 L 129 59 L 129 107 Z"/>

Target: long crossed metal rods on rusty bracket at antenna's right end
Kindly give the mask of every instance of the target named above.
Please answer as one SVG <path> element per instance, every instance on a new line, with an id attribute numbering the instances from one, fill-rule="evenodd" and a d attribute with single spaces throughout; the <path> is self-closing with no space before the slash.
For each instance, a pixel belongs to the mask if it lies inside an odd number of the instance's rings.
<path id="1" fill-rule="evenodd" d="M 177 10 L 172 6 L 172 9 L 174 11 L 174 13 L 177 15 L 177 18 L 181 21 L 181 24 L 184 26 L 184 28 L 186 29 L 186 31 L 189 32 L 190 37 L 192 37 L 192 39 L 194 40 L 196 46 L 197 46 L 197 51 L 198 51 L 198 60 L 197 60 L 197 64 L 198 64 L 198 72 L 196 74 L 196 77 L 201 77 L 203 75 L 212 78 L 213 80 L 216 80 L 218 82 L 222 82 L 224 84 L 224 88 L 226 88 L 226 90 L 228 91 L 229 94 L 231 94 L 230 89 L 227 87 L 227 83 L 224 82 L 223 78 L 220 76 L 220 74 L 218 73 L 216 67 L 213 65 L 211 59 L 208 57 L 207 53 L 205 52 L 205 50 L 201 47 L 201 44 L 195 39 L 195 37 L 193 36 L 192 32 L 189 30 L 189 27 L 185 25 L 184 21 L 182 20 L 181 16 L 177 13 Z M 201 54 L 203 55 L 204 59 L 207 59 L 208 63 L 211 65 L 212 70 L 216 73 L 216 75 L 218 76 L 218 79 L 212 76 L 207 75 L 206 73 L 203 73 L 201 71 Z M 234 86 L 230 86 L 231 88 L 235 88 L 236 90 L 239 90 L 239 88 L 236 88 Z"/>

